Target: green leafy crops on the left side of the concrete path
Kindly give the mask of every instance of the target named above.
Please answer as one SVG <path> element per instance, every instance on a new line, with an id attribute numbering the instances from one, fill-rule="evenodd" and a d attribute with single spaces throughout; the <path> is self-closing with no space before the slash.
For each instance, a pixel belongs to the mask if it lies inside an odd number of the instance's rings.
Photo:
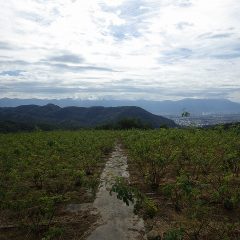
<path id="1" fill-rule="evenodd" d="M 84 224 L 62 206 L 93 201 L 114 142 L 103 131 L 0 135 L 0 239 L 58 239 L 66 223 L 73 239 Z"/>

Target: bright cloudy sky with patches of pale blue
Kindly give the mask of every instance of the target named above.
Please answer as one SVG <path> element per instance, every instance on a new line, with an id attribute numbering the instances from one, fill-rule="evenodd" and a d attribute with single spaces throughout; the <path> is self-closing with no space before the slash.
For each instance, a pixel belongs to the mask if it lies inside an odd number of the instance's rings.
<path id="1" fill-rule="evenodd" d="M 0 0 L 0 98 L 240 102 L 239 0 Z"/>

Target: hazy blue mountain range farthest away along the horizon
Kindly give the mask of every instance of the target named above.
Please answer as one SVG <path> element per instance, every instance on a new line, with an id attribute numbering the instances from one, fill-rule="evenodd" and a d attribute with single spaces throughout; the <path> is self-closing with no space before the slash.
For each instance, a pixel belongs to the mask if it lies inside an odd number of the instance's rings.
<path id="1" fill-rule="evenodd" d="M 181 115 L 186 110 L 191 115 L 233 114 L 240 113 L 240 103 L 227 99 L 183 99 L 179 101 L 148 101 L 148 100 L 80 100 L 80 99 L 0 99 L 0 107 L 16 107 L 20 105 L 56 104 L 60 107 L 119 107 L 138 106 L 153 114 Z"/>

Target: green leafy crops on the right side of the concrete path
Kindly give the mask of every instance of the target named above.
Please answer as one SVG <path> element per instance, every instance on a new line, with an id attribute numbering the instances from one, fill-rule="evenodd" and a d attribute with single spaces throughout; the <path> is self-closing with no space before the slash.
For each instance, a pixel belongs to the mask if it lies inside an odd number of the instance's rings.
<path id="1" fill-rule="evenodd" d="M 149 230 L 169 240 L 240 239 L 239 133 L 163 129 L 123 132 L 122 141 L 132 184 L 153 199 Z"/>

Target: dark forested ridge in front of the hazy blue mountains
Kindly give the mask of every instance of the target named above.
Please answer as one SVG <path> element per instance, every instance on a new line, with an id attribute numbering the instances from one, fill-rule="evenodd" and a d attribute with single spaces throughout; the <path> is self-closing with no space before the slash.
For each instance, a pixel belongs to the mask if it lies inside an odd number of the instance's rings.
<path id="1" fill-rule="evenodd" d="M 121 119 L 134 118 L 158 128 L 175 127 L 174 121 L 157 116 L 140 107 L 64 107 L 54 104 L 44 106 L 22 105 L 0 108 L 0 121 L 34 124 L 57 124 L 63 127 L 96 127 Z"/>

